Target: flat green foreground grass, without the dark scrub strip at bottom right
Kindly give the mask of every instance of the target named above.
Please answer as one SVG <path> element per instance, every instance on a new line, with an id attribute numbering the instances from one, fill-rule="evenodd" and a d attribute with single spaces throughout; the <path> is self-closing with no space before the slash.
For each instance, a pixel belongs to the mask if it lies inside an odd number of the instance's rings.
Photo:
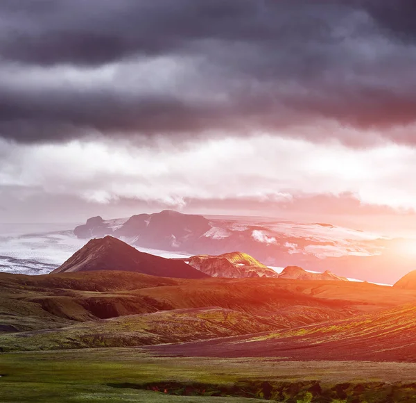
<path id="1" fill-rule="evenodd" d="M 285 362 L 275 359 L 189 359 L 154 357 L 140 349 L 84 349 L 0 354 L 0 402 L 193 402 L 248 403 L 243 397 L 173 396 L 140 390 L 146 384 L 182 382 L 227 387 L 320 381 L 323 385 L 411 384 L 416 364 Z M 405 385 L 408 390 L 411 386 Z M 414 389 L 413 389 L 414 390 Z M 381 392 L 380 392 L 381 393 Z M 383 393 L 387 393 L 384 392 Z M 283 400 L 349 402 L 349 400 Z M 398 396 L 398 395 L 396 395 Z M 259 394 L 261 397 L 261 394 Z M 379 400 L 377 400 L 379 398 Z M 303 397 L 302 397 L 303 399 Z M 388 402 L 384 397 L 358 402 Z M 399 402 L 395 397 L 393 402 Z M 412 400 L 403 400 L 412 401 Z"/>

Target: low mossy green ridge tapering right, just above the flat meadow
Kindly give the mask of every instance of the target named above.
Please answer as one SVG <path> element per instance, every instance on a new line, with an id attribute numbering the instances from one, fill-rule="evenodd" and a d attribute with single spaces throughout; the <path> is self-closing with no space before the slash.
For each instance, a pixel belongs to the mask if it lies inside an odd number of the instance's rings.
<path id="1" fill-rule="evenodd" d="M 281 329 L 275 320 L 220 308 L 159 311 L 84 322 L 64 329 L 0 334 L 4 351 L 181 343 Z"/>

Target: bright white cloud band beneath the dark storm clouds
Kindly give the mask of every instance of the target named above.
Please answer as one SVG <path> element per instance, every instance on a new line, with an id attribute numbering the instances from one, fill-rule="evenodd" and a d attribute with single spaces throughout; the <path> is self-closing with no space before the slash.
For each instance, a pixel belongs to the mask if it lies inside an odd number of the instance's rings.
<path id="1" fill-rule="evenodd" d="M 362 204 L 388 206 L 380 213 L 416 208 L 416 186 L 408 181 L 416 170 L 416 151 L 404 145 L 357 150 L 263 134 L 180 146 L 161 139 L 157 148 L 73 140 L 58 145 L 1 142 L 0 149 L 0 187 L 98 204 L 137 199 L 175 207 L 189 200 L 240 199 L 270 211 L 280 206 L 319 212 L 319 206 L 327 206 L 322 208 L 339 214 L 360 209 L 354 196 Z M 340 200 L 336 204 L 316 195 Z"/>

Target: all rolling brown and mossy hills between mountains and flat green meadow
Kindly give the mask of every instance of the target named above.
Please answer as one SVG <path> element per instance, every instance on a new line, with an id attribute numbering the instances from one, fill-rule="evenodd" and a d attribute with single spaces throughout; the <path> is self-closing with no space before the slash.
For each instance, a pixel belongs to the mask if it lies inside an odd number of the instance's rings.
<path id="1" fill-rule="evenodd" d="M 257 346 L 255 340 L 245 343 L 250 334 L 266 331 L 291 342 L 293 334 L 286 331 L 327 323 L 324 328 L 358 320 L 363 313 L 372 318 L 373 312 L 416 301 L 414 290 L 368 283 L 169 279 L 124 271 L 0 274 L 0 293 L 0 349 L 153 345 L 248 335 L 239 341 L 240 349 Z M 218 351 L 229 354 L 229 346 L 223 347 Z M 269 354 L 269 347 L 260 343 L 253 351 Z"/>

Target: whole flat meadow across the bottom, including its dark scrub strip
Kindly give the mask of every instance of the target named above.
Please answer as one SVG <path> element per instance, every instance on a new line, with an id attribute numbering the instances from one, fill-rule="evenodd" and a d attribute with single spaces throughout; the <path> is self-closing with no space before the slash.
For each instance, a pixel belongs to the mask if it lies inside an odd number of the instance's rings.
<path id="1" fill-rule="evenodd" d="M 416 387 L 413 363 L 194 359 L 128 348 L 3 353 L 0 375 L 2 403 L 412 402 Z"/>

